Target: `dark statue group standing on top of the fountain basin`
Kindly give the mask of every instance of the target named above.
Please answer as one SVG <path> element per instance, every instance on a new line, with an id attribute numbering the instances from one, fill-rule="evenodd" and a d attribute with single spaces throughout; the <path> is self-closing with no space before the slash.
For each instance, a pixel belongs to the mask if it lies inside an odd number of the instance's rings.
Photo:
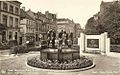
<path id="1" fill-rule="evenodd" d="M 73 44 L 73 33 L 66 33 L 66 31 L 61 30 L 61 32 L 56 35 L 55 30 L 49 30 L 47 33 L 48 47 L 71 47 Z"/>

